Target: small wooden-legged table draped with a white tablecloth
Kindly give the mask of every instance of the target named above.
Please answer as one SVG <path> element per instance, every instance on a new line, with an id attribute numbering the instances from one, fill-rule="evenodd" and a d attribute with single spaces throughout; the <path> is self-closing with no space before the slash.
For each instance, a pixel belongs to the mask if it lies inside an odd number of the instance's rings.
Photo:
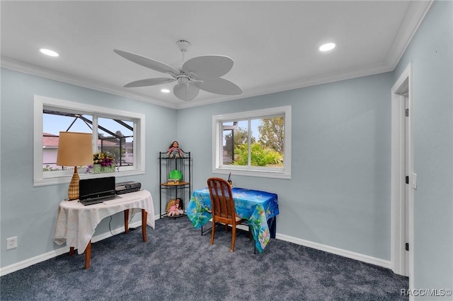
<path id="1" fill-rule="evenodd" d="M 125 232 L 129 232 L 129 221 L 135 213 L 142 211 L 142 238 L 147 241 L 147 224 L 154 228 L 154 205 L 147 190 L 122 194 L 120 202 L 108 201 L 84 206 L 79 201 L 59 203 L 54 242 L 69 245 L 69 255 L 74 249 L 85 250 L 85 268 L 90 267 L 91 237 L 103 218 L 124 211 Z"/>

